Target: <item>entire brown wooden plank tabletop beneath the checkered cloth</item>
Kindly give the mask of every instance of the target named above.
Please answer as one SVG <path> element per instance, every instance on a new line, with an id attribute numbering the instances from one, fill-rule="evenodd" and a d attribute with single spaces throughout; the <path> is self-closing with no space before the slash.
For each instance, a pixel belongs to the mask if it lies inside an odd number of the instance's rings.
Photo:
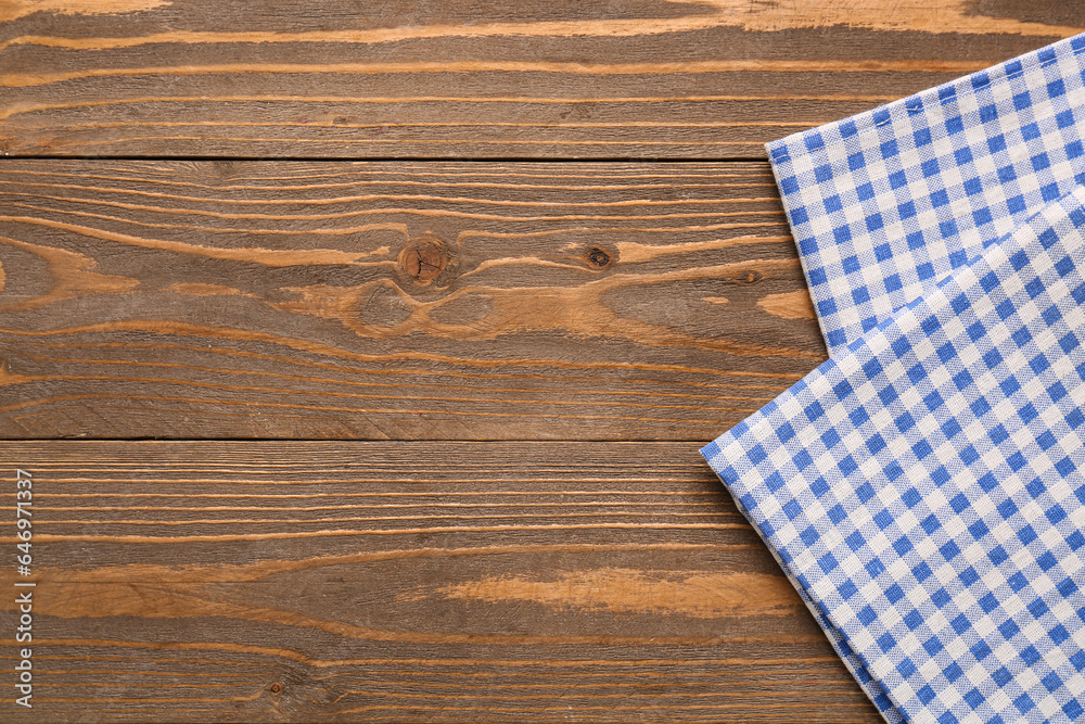
<path id="1" fill-rule="evenodd" d="M 0 0 L 0 719 L 879 721 L 697 454 L 826 357 L 762 144 L 1082 29 Z"/>

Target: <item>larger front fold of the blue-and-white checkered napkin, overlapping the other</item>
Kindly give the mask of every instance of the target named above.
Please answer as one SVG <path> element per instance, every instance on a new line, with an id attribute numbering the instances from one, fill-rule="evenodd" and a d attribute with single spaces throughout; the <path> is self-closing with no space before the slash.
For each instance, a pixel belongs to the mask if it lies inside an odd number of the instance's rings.
<path id="1" fill-rule="evenodd" d="M 890 721 L 1085 719 L 1085 188 L 702 450 Z"/>

